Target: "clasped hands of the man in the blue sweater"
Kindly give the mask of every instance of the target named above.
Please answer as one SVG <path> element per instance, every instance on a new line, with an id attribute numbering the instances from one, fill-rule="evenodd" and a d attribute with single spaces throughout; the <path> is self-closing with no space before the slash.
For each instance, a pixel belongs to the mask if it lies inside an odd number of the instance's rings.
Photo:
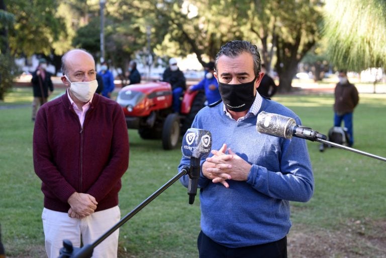
<path id="1" fill-rule="evenodd" d="M 228 154 L 226 152 L 228 151 Z M 224 143 L 219 150 L 211 151 L 213 156 L 208 157 L 203 163 L 203 175 L 211 179 L 213 183 L 221 183 L 226 188 L 229 184 L 226 180 L 246 181 L 251 165 L 233 152 Z"/>

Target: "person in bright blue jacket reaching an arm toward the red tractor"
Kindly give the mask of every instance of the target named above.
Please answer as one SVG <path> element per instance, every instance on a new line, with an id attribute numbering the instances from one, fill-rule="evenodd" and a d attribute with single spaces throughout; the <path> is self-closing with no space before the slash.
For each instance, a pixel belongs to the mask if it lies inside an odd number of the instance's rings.
<path id="1" fill-rule="evenodd" d="M 215 63 L 209 62 L 205 65 L 205 78 L 202 79 L 199 83 L 196 85 L 191 85 L 187 91 L 193 92 L 193 91 L 199 91 L 204 90 L 205 96 L 207 97 L 208 104 L 215 103 L 221 99 L 220 92 L 219 92 L 219 83 L 217 82 L 217 79 L 215 76 L 213 76 L 213 73 L 215 71 Z"/>

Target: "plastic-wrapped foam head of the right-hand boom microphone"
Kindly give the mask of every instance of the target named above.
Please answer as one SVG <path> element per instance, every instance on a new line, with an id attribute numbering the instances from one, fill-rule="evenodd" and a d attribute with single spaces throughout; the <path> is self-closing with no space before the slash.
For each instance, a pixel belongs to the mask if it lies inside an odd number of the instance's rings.
<path id="1" fill-rule="evenodd" d="M 295 119 L 264 111 L 257 115 L 256 129 L 260 133 L 291 139 Z"/>

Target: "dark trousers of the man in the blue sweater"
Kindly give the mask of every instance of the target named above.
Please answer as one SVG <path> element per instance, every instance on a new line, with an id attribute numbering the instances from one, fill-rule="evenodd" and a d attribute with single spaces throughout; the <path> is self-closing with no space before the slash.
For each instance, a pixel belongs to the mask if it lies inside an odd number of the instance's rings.
<path id="1" fill-rule="evenodd" d="M 266 244 L 230 248 L 218 244 L 203 231 L 197 239 L 200 258 L 287 258 L 287 237 Z"/>

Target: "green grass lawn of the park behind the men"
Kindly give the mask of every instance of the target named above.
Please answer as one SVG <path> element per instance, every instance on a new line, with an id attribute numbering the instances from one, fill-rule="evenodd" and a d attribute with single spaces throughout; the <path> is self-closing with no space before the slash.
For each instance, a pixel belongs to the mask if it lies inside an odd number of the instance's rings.
<path id="1" fill-rule="evenodd" d="M 44 255 L 43 195 L 32 161 L 31 96 L 31 89 L 15 89 L 0 104 L 18 105 L 0 109 L 0 223 L 9 257 Z M 294 110 L 305 126 L 323 134 L 332 126 L 332 95 L 277 95 L 273 99 Z M 386 95 L 360 95 L 354 112 L 354 148 L 386 157 L 385 112 Z M 181 157 L 180 149 L 165 151 L 160 140 L 142 140 L 135 130 L 129 130 L 129 137 L 129 169 L 120 192 L 122 217 L 176 175 Z M 320 152 L 317 142 L 309 141 L 308 147 L 315 194 L 306 204 L 292 203 L 289 256 L 385 257 L 386 249 L 379 250 L 386 244 L 385 230 L 379 229 L 379 225 L 386 228 L 385 162 L 338 148 Z M 197 257 L 199 230 L 199 198 L 189 205 L 186 189 L 177 182 L 121 227 L 119 257 Z M 298 238 L 302 235 L 306 240 Z M 337 239 L 335 244 L 346 249 L 310 254 L 314 235 L 325 236 L 326 241 Z M 383 245 L 356 242 L 356 236 L 376 238 Z M 302 250 L 292 247 L 301 240 Z"/>

